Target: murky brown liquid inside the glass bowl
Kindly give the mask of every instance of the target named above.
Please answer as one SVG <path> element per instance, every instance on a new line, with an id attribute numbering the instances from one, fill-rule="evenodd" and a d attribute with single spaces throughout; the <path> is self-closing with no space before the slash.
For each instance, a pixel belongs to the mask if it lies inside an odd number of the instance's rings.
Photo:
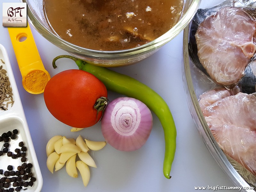
<path id="1" fill-rule="evenodd" d="M 49 26 L 62 39 L 103 51 L 163 35 L 180 19 L 183 0 L 44 0 Z"/>

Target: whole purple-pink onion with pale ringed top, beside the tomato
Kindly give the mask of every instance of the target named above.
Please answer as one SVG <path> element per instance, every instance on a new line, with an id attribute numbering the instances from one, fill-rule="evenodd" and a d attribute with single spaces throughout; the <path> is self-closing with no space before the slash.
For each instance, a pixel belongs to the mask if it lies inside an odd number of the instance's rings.
<path id="1" fill-rule="evenodd" d="M 108 103 L 101 120 L 101 131 L 109 145 L 120 151 L 141 148 L 151 133 L 153 117 L 140 100 L 119 97 Z"/>

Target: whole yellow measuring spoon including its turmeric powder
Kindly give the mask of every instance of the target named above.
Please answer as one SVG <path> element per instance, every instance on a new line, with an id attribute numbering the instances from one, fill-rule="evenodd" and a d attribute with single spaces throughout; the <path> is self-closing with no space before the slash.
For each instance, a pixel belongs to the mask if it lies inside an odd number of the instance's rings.
<path id="1" fill-rule="evenodd" d="M 28 23 L 27 27 L 8 27 L 8 31 L 24 89 L 32 94 L 44 92 L 51 77 L 44 68 Z"/>

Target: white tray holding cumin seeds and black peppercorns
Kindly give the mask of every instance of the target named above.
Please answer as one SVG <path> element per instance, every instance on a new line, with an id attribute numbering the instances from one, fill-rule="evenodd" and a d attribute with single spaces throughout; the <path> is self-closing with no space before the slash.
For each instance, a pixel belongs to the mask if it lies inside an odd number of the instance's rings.
<path id="1" fill-rule="evenodd" d="M 33 177 L 36 178 L 36 181 L 33 183 L 33 186 L 28 186 L 26 191 L 27 192 L 39 192 L 41 191 L 41 188 L 43 186 L 43 179 L 42 174 L 37 162 L 35 149 L 31 140 L 31 136 L 28 129 L 28 124 L 24 115 L 24 111 L 22 108 L 22 104 L 20 101 L 19 92 L 15 83 L 15 79 L 13 77 L 12 68 L 10 65 L 10 61 L 8 58 L 8 54 L 6 52 L 6 49 L 2 44 L 0 44 L 0 59 L 3 60 L 0 61 L 0 66 L 3 66 L 3 69 L 7 71 L 7 76 L 9 77 L 9 81 L 12 87 L 12 93 L 13 93 L 13 100 L 14 103 L 11 106 L 11 104 L 8 104 L 7 110 L 1 110 L 0 109 L 0 136 L 4 132 L 13 131 L 14 129 L 18 130 L 17 138 L 14 140 L 9 141 L 10 147 L 9 151 L 14 152 L 16 148 L 20 148 L 19 142 L 23 141 L 24 146 L 27 147 L 27 161 L 26 163 L 33 164 L 33 167 L 31 168 L 31 172 L 33 173 Z M 6 103 L 7 101 L 5 101 Z M 0 150 L 3 150 L 4 148 L 4 141 L 0 142 Z M 17 167 L 21 165 L 23 162 L 21 162 L 21 157 L 12 159 L 11 157 L 8 157 L 7 154 L 3 154 L 0 156 L 0 169 L 3 169 L 4 171 L 7 171 L 8 165 L 13 165 L 14 171 L 17 171 Z M 0 175 L 0 178 L 4 177 L 4 175 Z M 10 176 L 11 177 L 11 176 Z M 27 181 L 29 181 L 28 179 Z M 11 183 L 12 184 L 12 183 Z M 10 186 L 12 187 L 12 186 Z M 23 187 L 24 188 L 24 187 Z M 21 190 L 23 191 L 23 190 Z"/>

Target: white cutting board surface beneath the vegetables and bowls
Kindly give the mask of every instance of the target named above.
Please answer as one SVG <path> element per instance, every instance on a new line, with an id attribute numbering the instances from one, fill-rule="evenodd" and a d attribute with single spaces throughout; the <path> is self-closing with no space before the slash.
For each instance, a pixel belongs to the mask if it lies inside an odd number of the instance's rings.
<path id="1" fill-rule="evenodd" d="M 219 2 L 203 0 L 201 7 L 212 6 Z M 2 3 L 0 10 L 2 10 Z M 32 26 L 31 29 L 44 67 L 51 76 L 66 69 L 77 68 L 72 60 L 61 59 L 57 63 L 58 68 L 53 69 L 52 59 L 67 52 L 49 43 Z M 90 168 L 91 180 L 85 188 L 81 176 L 79 175 L 76 179 L 69 177 L 65 167 L 53 174 L 47 170 L 45 146 L 47 141 L 57 134 L 73 138 L 81 134 L 91 140 L 103 140 L 100 124 L 80 132 L 70 132 L 69 126 L 60 123 L 49 113 L 44 104 L 43 94 L 32 95 L 26 92 L 21 84 L 22 79 L 7 28 L 0 26 L 0 43 L 4 45 L 9 55 L 43 175 L 42 191 L 191 192 L 198 186 L 234 187 L 210 155 L 190 115 L 181 72 L 182 38 L 181 32 L 153 56 L 140 63 L 112 68 L 147 84 L 169 105 L 177 127 L 177 149 L 172 164 L 172 178 L 168 180 L 163 175 L 164 133 L 158 118 L 153 114 L 153 130 L 146 144 L 139 150 L 122 152 L 107 145 L 100 151 L 90 153 L 98 168 Z M 108 95 L 110 100 L 121 96 L 113 92 L 108 92 Z"/>

